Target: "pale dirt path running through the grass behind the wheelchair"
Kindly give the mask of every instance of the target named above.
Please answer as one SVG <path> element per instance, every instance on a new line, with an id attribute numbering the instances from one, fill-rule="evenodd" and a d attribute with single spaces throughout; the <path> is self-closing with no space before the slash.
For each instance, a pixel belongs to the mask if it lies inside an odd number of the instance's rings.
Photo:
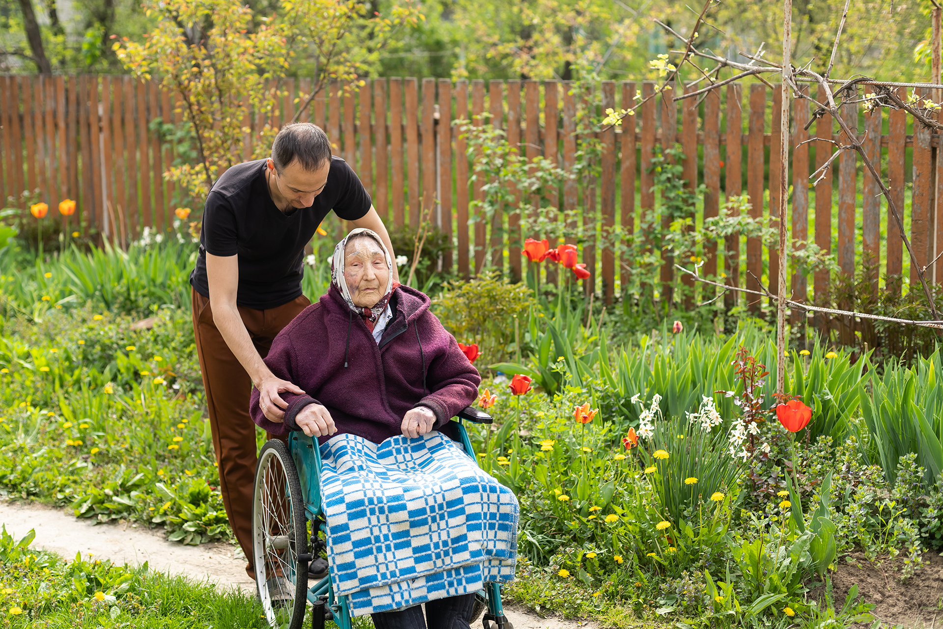
<path id="1" fill-rule="evenodd" d="M 160 529 L 148 530 L 126 522 L 96 525 L 35 503 L 0 502 L 0 524 L 17 539 L 35 530 L 34 545 L 66 559 L 81 552 L 114 563 L 137 565 L 146 561 L 151 570 L 185 574 L 248 593 L 255 590 L 255 582 L 245 574 L 245 559 L 237 557 L 233 544 L 184 546 L 167 541 Z M 540 618 L 518 605 L 506 606 L 505 615 L 514 629 L 598 629 L 590 622 Z"/>

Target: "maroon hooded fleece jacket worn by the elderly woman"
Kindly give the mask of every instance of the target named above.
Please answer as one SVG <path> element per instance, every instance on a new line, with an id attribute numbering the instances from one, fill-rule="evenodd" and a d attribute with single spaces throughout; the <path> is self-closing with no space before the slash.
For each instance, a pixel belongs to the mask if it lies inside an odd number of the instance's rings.
<path id="1" fill-rule="evenodd" d="M 395 290 L 389 303 L 393 318 L 377 345 L 363 319 L 332 286 L 285 326 L 265 358 L 277 377 L 306 395 L 281 393 L 289 406 L 285 422 L 274 423 L 259 408 L 254 388 L 253 421 L 273 435 L 285 435 L 299 429 L 294 420 L 302 408 L 320 404 L 334 418 L 337 434 L 380 443 L 403 434 L 406 411 L 426 406 L 436 414 L 435 428 L 441 428 L 472 404 L 481 376 L 429 304 L 419 290 Z"/>

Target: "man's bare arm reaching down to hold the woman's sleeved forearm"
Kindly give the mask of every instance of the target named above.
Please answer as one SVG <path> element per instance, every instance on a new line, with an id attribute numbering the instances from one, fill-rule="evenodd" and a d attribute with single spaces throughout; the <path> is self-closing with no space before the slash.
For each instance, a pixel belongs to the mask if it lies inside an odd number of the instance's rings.
<path id="1" fill-rule="evenodd" d="M 387 239 L 389 240 L 389 236 Z M 259 406 L 265 413 L 265 417 L 272 422 L 282 422 L 285 417 L 282 409 L 288 405 L 278 394 L 289 391 L 304 395 L 305 391 L 288 380 L 275 377 L 262 361 L 262 356 L 258 356 L 256 346 L 249 338 L 249 331 L 245 329 L 245 323 L 242 323 L 239 308 L 236 306 L 236 292 L 239 289 L 239 257 L 220 257 L 207 253 L 207 284 L 213 323 L 223 335 L 223 340 L 226 341 L 233 355 L 240 361 L 242 368 L 252 378 L 252 383 L 259 392 Z"/>

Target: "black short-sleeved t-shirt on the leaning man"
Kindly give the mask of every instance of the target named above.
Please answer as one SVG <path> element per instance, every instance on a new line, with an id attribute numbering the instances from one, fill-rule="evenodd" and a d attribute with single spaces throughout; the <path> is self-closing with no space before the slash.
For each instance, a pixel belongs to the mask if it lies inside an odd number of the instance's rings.
<path id="1" fill-rule="evenodd" d="M 340 157 L 314 205 L 285 214 L 272 201 L 265 178 L 265 159 L 233 166 L 209 190 L 203 210 L 200 256 L 190 285 L 209 297 L 207 252 L 239 255 L 236 303 L 257 309 L 289 303 L 301 295 L 305 245 L 332 209 L 341 219 L 356 221 L 370 211 L 370 194 Z"/>

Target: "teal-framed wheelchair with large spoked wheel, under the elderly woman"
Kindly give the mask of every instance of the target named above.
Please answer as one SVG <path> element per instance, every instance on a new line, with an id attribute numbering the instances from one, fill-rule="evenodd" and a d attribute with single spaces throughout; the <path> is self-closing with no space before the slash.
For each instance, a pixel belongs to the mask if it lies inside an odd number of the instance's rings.
<path id="1" fill-rule="evenodd" d="M 477 462 L 464 422 L 493 420 L 468 406 L 452 421 L 456 440 Z M 316 583 L 308 579 L 308 564 L 326 550 L 330 535 L 322 509 L 321 468 L 317 440 L 301 432 L 290 433 L 287 443 L 269 440 L 258 455 L 253 563 L 258 598 L 273 629 L 301 629 L 306 618 L 311 629 L 324 629 L 325 621 L 333 621 L 338 629 L 353 629 L 348 597 L 335 595 L 330 574 Z M 505 618 L 499 584 L 488 583 L 476 593 L 471 622 L 479 617 L 484 629 L 514 629 Z"/>

